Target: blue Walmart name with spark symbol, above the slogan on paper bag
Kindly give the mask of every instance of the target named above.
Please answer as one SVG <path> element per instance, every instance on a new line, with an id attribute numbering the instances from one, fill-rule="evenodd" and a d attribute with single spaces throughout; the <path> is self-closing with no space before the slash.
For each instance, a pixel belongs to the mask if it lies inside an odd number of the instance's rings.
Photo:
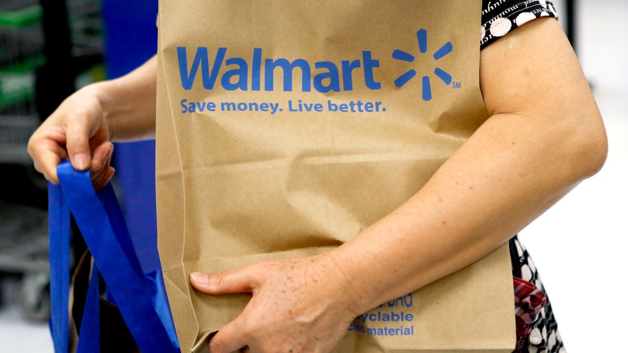
<path id="1" fill-rule="evenodd" d="M 419 52 L 428 52 L 428 33 L 426 30 L 416 32 Z M 273 91 L 283 90 L 291 92 L 321 93 L 352 91 L 354 86 L 365 87 L 370 90 L 382 88 L 382 82 L 377 80 L 377 70 L 380 62 L 371 50 L 363 50 L 361 57 L 346 58 L 331 62 L 322 60 L 309 62 L 303 58 L 268 58 L 264 56 L 262 48 L 252 48 L 252 55 L 244 57 L 229 55 L 226 47 L 210 50 L 207 46 L 187 48 L 178 46 L 178 59 L 181 87 L 191 90 L 198 82 L 203 89 L 213 90 L 222 87 L 224 90 L 252 90 Z M 434 53 L 436 62 L 446 57 L 453 50 L 452 42 Z M 212 55 L 210 55 L 212 53 Z M 354 54 L 355 55 L 355 54 Z M 414 62 L 414 55 L 403 50 L 394 50 L 393 58 L 404 62 Z M 191 60 L 190 60 L 191 59 Z M 452 75 L 437 67 L 434 74 L 446 85 L 452 84 Z M 416 76 L 414 69 L 403 73 L 394 85 L 402 87 Z M 277 77 L 278 80 L 275 80 Z M 293 82 L 295 87 L 293 87 Z M 281 86 L 275 87 L 276 84 Z M 454 89 L 460 88 L 460 82 L 453 82 Z M 431 100 L 431 82 L 429 76 L 423 76 L 423 100 Z"/>

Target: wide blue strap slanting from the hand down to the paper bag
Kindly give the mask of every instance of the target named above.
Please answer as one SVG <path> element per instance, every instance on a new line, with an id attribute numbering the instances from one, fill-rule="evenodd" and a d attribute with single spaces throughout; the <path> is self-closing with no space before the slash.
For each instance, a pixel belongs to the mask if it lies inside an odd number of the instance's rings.
<path id="1" fill-rule="evenodd" d="M 139 268 L 133 242 L 131 242 L 126 225 L 124 225 L 124 219 L 122 219 L 122 213 L 111 184 L 103 188 L 98 194 L 95 193 L 89 171 L 74 170 L 67 161 L 58 165 L 57 175 L 63 195 L 55 193 L 53 197 L 61 199 L 65 197 L 67 207 L 72 210 L 94 262 L 107 283 L 109 292 L 116 300 L 116 305 L 139 349 L 143 352 L 156 353 L 179 352 L 176 344 L 171 342 L 168 331 L 153 307 L 150 290 L 144 274 Z M 51 189 L 57 188 L 51 187 Z M 69 225 L 67 232 L 69 234 Z M 67 247 L 64 249 L 69 248 L 68 235 L 67 238 Z M 52 258 L 55 256 L 51 256 L 51 261 Z M 58 266 L 57 262 L 59 261 L 55 261 L 55 264 L 51 265 Z M 67 273 L 69 274 L 69 269 Z M 67 277 L 67 281 L 69 281 L 69 276 Z M 64 288 L 67 286 L 61 286 L 62 291 L 58 295 L 61 299 L 63 299 Z M 58 303 L 62 305 L 61 301 Z M 67 300 L 64 303 L 62 310 L 67 311 Z M 57 312 L 56 314 L 63 320 L 63 313 Z M 65 315 L 65 322 L 67 322 L 67 313 Z M 60 329 L 62 333 L 57 334 L 57 325 L 54 323 L 55 320 L 53 320 L 52 325 L 53 335 L 62 336 L 63 327 L 67 330 L 67 324 Z M 65 337 L 67 337 L 67 333 Z M 67 342 L 67 339 L 65 341 Z M 55 343 L 55 347 L 56 345 L 57 343 Z M 67 352 L 67 344 L 63 346 L 60 343 L 58 352 Z"/>

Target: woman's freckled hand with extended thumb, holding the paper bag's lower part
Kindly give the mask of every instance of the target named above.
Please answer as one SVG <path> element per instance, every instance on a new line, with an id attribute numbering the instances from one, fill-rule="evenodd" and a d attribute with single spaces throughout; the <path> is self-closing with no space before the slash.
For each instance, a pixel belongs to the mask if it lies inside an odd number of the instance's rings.
<path id="1" fill-rule="evenodd" d="M 357 317 L 352 290 L 327 255 L 264 261 L 190 274 L 209 295 L 252 293 L 244 311 L 210 341 L 212 353 L 331 352 Z"/>

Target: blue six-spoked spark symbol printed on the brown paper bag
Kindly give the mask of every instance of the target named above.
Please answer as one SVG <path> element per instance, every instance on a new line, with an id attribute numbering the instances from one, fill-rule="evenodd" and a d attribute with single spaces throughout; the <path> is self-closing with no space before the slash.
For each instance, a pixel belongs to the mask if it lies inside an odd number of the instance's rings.
<path id="1" fill-rule="evenodd" d="M 419 51 L 421 53 L 426 53 L 428 51 L 428 31 L 419 30 L 416 32 L 416 39 L 419 43 Z M 441 58 L 447 56 L 447 54 L 451 53 L 453 50 L 452 42 L 448 41 L 445 45 L 441 46 L 439 50 L 436 50 L 434 53 L 434 59 L 436 61 Z M 410 53 L 406 53 L 403 50 L 395 50 L 393 52 L 393 58 L 397 60 L 402 60 L 404 62 L 414 62 L 414 55 Z M 438 76 L 446 85 L 450 85 L 452 83 L 452 75 L 445 72 L 445 70 L 437 67 L 434 70 L 434 74 Z M 414 69 L 405 72 L 403 75 L 399 76 L 396 80 L 394 80 L 394 85 L 397 87 L 402 87 L 407 84 L 409 80 L 411 80 L 414 76 L 416 76 L 416 71 Z M 423 76 L 423 100 L 431 100 L 431 83 L 429 76 Z"/>

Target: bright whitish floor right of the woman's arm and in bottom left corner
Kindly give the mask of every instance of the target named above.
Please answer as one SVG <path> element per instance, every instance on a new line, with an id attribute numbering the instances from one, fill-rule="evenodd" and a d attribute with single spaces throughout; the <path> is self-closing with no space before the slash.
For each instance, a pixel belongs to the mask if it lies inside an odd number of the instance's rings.
<path id="1" fill-rule="evenodd" d="M 561 11 L 561 1 L 555 3 Z M 524 229 L 521 239 L 549 291 L 568 351 L 625 352 L 628 2 L 579 3 L 578 53 L 607 126 L 609 158 L 598 175 Z M 576 285 L 582 292 L 573 291 Z M 14 308 L 0 308 L 0 352 L 51 351 L 46 324 L 26 323 Z"/>

